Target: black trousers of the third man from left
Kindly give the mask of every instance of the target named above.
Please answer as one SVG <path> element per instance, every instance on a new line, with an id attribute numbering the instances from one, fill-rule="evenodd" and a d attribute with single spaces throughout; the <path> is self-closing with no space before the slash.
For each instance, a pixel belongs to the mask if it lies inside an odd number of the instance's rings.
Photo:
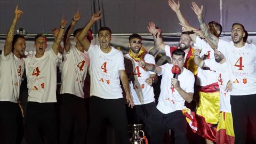
<path id="1" fill-rule="evenodd" d="M 85 100 L 74 94 L 64 93 L 60 95 L 59 104 L 60 143 L 84 144 L 88 117 Z"/>

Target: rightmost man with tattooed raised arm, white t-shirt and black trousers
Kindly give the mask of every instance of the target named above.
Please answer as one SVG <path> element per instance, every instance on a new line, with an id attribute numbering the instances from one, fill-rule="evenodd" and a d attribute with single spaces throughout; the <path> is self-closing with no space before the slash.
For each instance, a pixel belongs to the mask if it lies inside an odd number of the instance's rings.
<path id="1" fill-rule="evenodd" d="M 244 42 L 245 28 L 241 23 L 234 23 L 231 29 L 231 42 L 222 41 L 211 35 L 202 17 L 203 5 L 195 2 L 192 9 L 197 15 L 204 36 L 211 41 L 228 60 L 232 91 L 230 104 L 233 116 L 235 143 L 245 143 L 247 126 L 252 125 L 252 137 L 256 140 L 256 46 Z"/>

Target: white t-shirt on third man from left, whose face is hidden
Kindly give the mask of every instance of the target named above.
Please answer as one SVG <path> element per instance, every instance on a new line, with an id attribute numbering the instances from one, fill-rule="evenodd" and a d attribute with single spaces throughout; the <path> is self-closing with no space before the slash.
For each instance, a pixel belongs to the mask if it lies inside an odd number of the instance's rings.
<path id="1" fill-rule="evenodd" d="M 61 87 L 60 93 L 70 93 L 84 98 L 84 81 L 87 68 L 90 66 L 89 55 L 81 52 L 71 44 L 69 52 L 64 51 L 64 60 L 61 63 Z"/>

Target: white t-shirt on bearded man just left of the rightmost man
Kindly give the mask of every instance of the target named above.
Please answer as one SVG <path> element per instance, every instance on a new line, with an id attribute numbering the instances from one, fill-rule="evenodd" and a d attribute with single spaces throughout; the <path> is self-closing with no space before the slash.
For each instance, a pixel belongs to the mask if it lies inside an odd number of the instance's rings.
<path id="1" fill-rule="evenodd" d="M 230 79 L 228 63 L 217 63 L 215 60 L 205 61 L 205 65 L 218 73 L 218 84 L 220 87 L 220 111 L 231 113 L 230 91 L 225 91 Z"/>

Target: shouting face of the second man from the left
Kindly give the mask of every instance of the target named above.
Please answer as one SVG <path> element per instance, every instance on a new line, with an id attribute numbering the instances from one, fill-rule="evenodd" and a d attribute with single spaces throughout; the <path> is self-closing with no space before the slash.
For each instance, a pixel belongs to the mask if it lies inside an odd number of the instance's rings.
<path id="1" fill-rule="evenodd" d="M 36 47 L 36 55 L 42 57 L 47 47 L 46 37 L 36 38 L 34 47 Z"/>

